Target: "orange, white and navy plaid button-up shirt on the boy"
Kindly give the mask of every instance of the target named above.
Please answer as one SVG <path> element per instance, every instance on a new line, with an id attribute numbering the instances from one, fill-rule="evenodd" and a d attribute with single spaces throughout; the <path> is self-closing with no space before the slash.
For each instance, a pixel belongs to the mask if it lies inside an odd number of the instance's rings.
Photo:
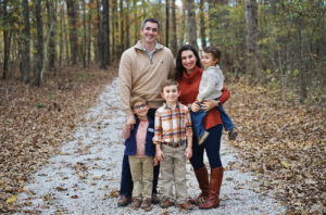
<path id="1" fill-rule="evenodd" d="M 192 136 L 191 117 L 188 108 L 177 103 L 171 109 L 165 103 L 155 113 L 155 134 L 153 143 L 179 143 Z"/>

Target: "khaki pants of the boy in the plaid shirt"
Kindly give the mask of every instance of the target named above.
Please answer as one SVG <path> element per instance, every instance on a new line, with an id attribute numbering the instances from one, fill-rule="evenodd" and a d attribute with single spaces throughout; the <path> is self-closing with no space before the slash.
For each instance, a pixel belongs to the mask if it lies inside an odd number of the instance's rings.
<path id="1" fill-rule="evenodd" d="M 178 204 L 187 200 L 186 179 L 186 146 L 172 148 L 162 144 L 164 160 L 161 162 L 161 177 L 164 198 L 174 199 L 173 182 L 175 184 L 176 201 Z"/>

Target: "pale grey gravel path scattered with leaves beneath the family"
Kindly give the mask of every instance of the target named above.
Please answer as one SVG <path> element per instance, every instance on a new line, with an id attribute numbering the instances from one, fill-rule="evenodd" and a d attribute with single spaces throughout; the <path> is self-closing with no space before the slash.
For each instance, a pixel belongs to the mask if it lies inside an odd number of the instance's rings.
<path id="1" fill-rule="evenodd" d="M 49 165 L 43 166 L 20 193 L 17 214 L 142 214 L 129 206 L 117 207 L 123 140 L 123 112 L 117 97 L 117 79 L 108 85 L 89 110 L 85 125 L 76 129 L 74 140 L 66 142 Z M 221 206 L 191 214 L 283 214 L 286 208 L 260 193 L 258 179 L 250 172 L 240 173 L 241 162 L 226 143 L 222 147 L 226 168 L 222 186 Z M 187 165 L 189 195 L 199 193 L 190 164 Z M 160 190 L 160 181 L 159 181 Z M 184 214 L 176 207 L 162 210 L 158 205 L 147 214 Z"/>

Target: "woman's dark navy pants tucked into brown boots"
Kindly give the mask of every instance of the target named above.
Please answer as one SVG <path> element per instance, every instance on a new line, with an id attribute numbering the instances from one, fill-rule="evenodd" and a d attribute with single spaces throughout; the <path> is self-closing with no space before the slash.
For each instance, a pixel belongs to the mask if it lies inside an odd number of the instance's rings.
<path id="1" fill-rule="evenodd" d="M 209 157 L 211 168 L 216 168 L 222 166 L 221 156 L 220 156 L 222 129 L 223 129 L 222 125 L 216 125 L 210 128 L 208 130 L 210 135 L 203 144 L 201 146 L 192 144 L 192 157 L 190 159 L 190 163 L 195 172 L 205 166 L 203 162 L 204 150 L 206 151 L 206 155 Z M 193 142 L 197 141 L 198 141 L 197 137 L 195 137 Z"/>

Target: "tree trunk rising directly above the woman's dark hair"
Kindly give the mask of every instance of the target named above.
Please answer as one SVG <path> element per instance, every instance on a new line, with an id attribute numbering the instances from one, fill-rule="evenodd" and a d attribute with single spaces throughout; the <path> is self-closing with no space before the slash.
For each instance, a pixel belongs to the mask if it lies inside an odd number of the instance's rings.
<path id="1" fill-rule="evenodd" d="M 198 50 L 195 1 L 187 1 L 188 42 Z"/>

